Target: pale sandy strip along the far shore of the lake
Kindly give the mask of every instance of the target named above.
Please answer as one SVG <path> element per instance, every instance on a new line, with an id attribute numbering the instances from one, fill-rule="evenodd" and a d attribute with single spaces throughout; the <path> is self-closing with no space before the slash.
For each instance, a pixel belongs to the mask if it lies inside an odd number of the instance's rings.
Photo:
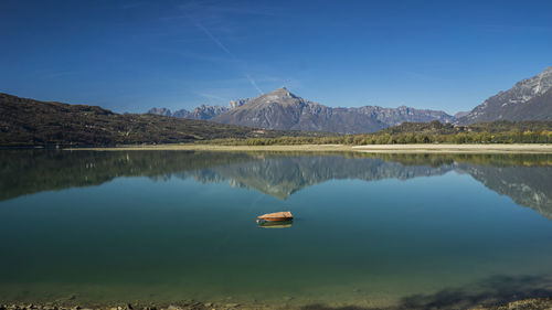
<path id="1" fill-rule="evenodd" d="M 134 151 L 305 151 L 305 152 L 369 152 L 369 153 L 552 153 L 552 145 L 297 145 L 297 146 L 220 146 L 220 145 L 158 145 L 121 146 L 113 148 L 70 148 L 67 150 Z"/>

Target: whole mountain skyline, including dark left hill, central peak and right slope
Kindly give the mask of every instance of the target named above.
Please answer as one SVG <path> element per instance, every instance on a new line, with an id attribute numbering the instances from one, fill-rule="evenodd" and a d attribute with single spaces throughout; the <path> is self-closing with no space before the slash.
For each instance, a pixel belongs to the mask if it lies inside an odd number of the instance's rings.
<path id="1" fill-rule="evenodd" d="M 322 137 L 336 136 L 329 132 L 373 132 L 382 128 L 399 133 L 421 130 L 425 132 L 424 126 L 428 122 L 435 122 L 431 128 L 437 130 L 438 135 L 478 131 L 477 128 L 493 132 L 497 128 L 501 132 L 550 130 L 552 67 L 517 83 L 509 90 L 500 92 L 471 111 L 456 116 L 404 106 L 335 108 L 304 99 L 286 88 L 278 88 L 256 98 L 232 100 L 229 107 L 203 105 L 191 111 L 182 109 L 174 113 L 167 108 L 157 108 L 151 109 L 149 114 L 117 114 L 97 106 L 39 101 L 0 93 L 2 147 L 113 146 L 181 143 L 219 138 Z M 442 124 L 445 124 L 445 127 Z M 546 142 L 548 138 L 541 136 L 526 140 Z"/>

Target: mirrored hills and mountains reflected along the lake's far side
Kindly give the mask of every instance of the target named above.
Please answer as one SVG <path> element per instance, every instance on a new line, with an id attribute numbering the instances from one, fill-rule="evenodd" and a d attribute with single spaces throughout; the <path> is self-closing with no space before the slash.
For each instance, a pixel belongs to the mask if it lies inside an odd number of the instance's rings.
<path id="1" fill-rule="evenodd" d="M 0 200 L 99 185 L 120 177 L 229 182 L 285 200 L 328 180 L 406 180 L 449 171 L 467 173 L 552 220 L 551 154 L 2 150 Z"/>

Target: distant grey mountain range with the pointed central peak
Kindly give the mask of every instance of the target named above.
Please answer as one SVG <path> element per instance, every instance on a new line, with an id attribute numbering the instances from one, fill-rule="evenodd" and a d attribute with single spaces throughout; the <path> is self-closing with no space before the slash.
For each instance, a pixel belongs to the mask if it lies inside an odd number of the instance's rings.
<path id="1" fill-rule="evenodd" d="M 194 113 L 195 110 L 201 110 Z M 183 113 L 185 111 L 185 113 Z M 331 108 L 306 100 L 286 88 L 261 95 L 257 98 L 231 100 L 229 107 L 200 106 L 192 113 L 167 108 L 152 108 L 148 113 L 280 130 L 328 131 L 340 133 L 372 132 L 404 121 L 424 122 L 439 120 L 452 122 L 454 117 L 438 110 L 411 107 Z"/>

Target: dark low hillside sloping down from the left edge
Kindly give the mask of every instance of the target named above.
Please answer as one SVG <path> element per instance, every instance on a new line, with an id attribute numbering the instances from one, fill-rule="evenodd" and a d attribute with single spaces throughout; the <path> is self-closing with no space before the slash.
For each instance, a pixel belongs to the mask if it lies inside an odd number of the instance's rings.
<path id="1" fill-rule="evenodd" d="M 185 143 L 298 135 L 150 114 L 121 115 L 97 106 L 39 101 L 0 93 L 1 147 Z"/>

